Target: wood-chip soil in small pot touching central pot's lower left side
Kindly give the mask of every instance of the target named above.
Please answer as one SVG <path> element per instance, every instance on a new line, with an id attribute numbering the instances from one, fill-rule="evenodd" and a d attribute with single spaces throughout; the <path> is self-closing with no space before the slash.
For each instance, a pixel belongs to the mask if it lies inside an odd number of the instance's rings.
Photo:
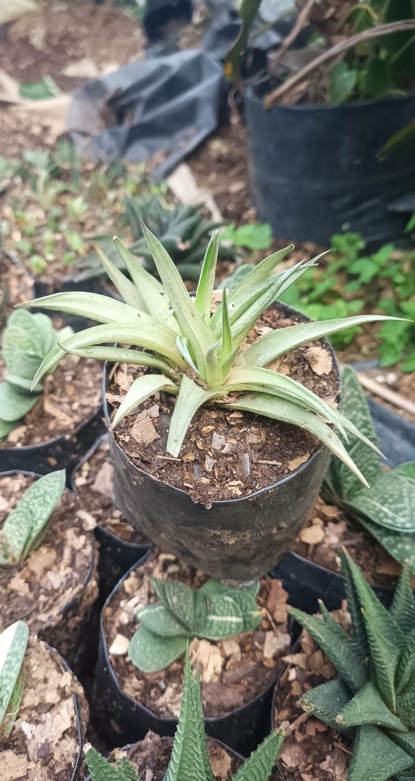
<path id="1" fill-rule="evenodd" d="M 131 526 L 113 502 L 114 469 L 109 459 L 109 443 L 103 440 L 91 457 L 73 474 L 73 484 L 84 508 L 95 518 L 98 526 L 130 543 L 148 540 Z"/>

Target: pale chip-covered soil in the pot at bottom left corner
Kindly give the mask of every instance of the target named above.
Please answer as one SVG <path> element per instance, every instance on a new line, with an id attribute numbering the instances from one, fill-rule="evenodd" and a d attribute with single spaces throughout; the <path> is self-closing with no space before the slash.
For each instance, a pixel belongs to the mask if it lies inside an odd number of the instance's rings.
<path id="1" fill-rule="evenodd" d="M 83 734 L 88 721 L 84 692 L 58 654 L 33 637 L 24 658 L 24 683 L 13 731 L 0 744 L 2 779 L 69 781 L 80 751 L 73 695 Z"/>

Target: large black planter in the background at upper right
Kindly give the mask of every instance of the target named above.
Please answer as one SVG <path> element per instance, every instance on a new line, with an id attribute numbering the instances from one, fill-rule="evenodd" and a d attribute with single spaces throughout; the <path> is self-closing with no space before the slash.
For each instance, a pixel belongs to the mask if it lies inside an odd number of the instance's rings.
<path id="1" fill-rule="evenodd" d="M 415 116 L 415 95 L 349 105 L 263 109 L 268 84 L 245 90 L 249 169 L 259 218 L 274 234 L 330 244 L 357 231 L 371 246 L 405 237 L 409 216 L 389 211 L 413 192 L 415 155 L 377 152 Z"/>

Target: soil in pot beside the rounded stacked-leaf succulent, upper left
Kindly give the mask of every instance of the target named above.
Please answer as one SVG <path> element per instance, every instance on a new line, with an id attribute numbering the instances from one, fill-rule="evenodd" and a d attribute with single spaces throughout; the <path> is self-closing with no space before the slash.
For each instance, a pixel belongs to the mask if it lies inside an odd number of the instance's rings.
<path id="1" fill-rule="evenodd" d="M 102 367 L 91 358 L 67 355 L 45 380 L 44 392 L 20 426 L 0 442 L 0 448 L 22 448 L 72 434 L 97 411 L 101 400 Z M 4 365 L 0 362 L 0 380 Z"/>

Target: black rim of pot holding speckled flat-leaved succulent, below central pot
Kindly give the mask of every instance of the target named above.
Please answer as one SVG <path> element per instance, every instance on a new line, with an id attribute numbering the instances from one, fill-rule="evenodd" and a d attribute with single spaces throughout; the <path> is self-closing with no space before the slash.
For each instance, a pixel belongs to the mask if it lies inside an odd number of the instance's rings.
<path id="1" fill-rule="evenodd" d="M 121 689 L 120 683 L 118 682 L 118 679 L 116 678 L 116 674 L 113 671 L 113 665 L 111 664 L 111 660 L 109 658 L 108 644 L 107 644 L 107 641 L 106 641 L 106 632 L 105 632 L 105 629 L 104 629 L 104 620 L 103 619 L 104 619 L 104 614 L 106 612 L 106 608 L 109 605 L 109 601 L 111 601 L 113 596 L 116 594 L 116 592 L 119 589 L 121 583 L 123 583 L 124 580 L 127 580 L 127 578 L 131 575 L 131 572 L 134 572 L 136 569 L 138 569 L 143 564 L 145 564 L 145 562 L 147 561 L 149 555 L 152 554 L 152 552 L 153 551 L 147 551 L 147 553 L 141 559 L 139 559 L 138 562 L 133 564 L 132 567 L 130 567 L 130 569 L 125 573 L 125 575 L 123 575 L 123 577 L 118 581 L 116 586 L 111 591 L 111 594 L 109 594 L 109 596 L 106 598 L 106 601 L 104 602 L 104 604 L 102 606 L 101 614 L 99 616 L 99 642 L 101 643 L 101 646 L 102 646 L 102 651 L 103 651 L 103 654 L 104 654 L 104 661 L 105 661 L 107 670 L 109 672 L 109 676 L 111 677 L 111 679 L 113 681 L 113 685 L 116 687 L 116 690 L 118 690 L 120 692 L 120 694 L 122 694 L 122 696 L 125 697 L 134 708 L 137 708 L 137 706 L 139 708 L 142 708 L 142 710 L 145 712 L 145 715 L 151 716 L 152 719 L 158 719 L 160 722 L 164 722 L 164 723 L 169 724 L 169 725 L 174 725 L 174 724 L 177 724 L 177 720 L 178 720 L 177 718 L 174 718 L 174 717 L 171 717 L 171 716 L 164 717 L 164 716 L 156 715 L 156 713 L 154 711 L 151 711 L 149 708 L 147 708 L 146 705 L 143 705 L 138 700 L 134 700 L 134 698 L 131 697 L 130 694 L 127 694 L 126 692 L 124 692 Z M 279 675 L 279 672 L 278 672 L 278 675 Z M 278 675 L 269 684 L 269 686 L 267 686 L 266 689 L 264 689 L 263 691 L 259 692 L 259 694 L 256 694 L 255 697 L 252 697 L 252 700 L 249 700 L 248 702 L 245 702 L 243 705 L 240 705 L 239 708 L 233 708 L 233 710 L 228 711 L 227 713 L 223 713 L 220 716 L 204 716 L 203 717 L 203 721 L 205 722 L 205 724 L 218 724 L 221 721 L 223 721 L 224 719 L 227 719 L 229 716 L 238 715 L 239 713 L 241 713 L 241 711 L 244 711 L 245 708 L 249 708 L 249 707 L 252 706 L 252 704 L 256 704 L 256 701 L 259 701 L 262 697 L 266 696 L 270 691 L 274 690 L 276 679 L 277 679 Z M 216 738 L 214 740 L 216 740 Z M 234 751 L 234 749 L 231 749 L 231 751 Z"/>

